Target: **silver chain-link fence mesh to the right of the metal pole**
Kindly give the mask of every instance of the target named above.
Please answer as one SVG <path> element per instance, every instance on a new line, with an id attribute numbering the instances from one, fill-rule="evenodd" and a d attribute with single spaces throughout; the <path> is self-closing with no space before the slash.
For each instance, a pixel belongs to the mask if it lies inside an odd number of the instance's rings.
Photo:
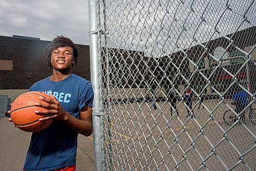
<path id="1" fill-rule="evenodd" d="M 96 2 L 104 169 L 256 170 L 256 3 Z"/>

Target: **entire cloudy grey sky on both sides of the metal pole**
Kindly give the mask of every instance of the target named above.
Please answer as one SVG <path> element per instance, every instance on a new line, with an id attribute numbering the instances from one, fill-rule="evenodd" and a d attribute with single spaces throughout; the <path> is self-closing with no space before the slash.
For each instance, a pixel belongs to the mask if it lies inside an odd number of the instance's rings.
<path id="1" fill-rule="evenodd" d="M 100 29 L 104 30 L 102 2 Z M 255 4 L 253 0 L 106 1 L 106 46 L 163 56 L 252 27 Z M 243 22 L 243 14 L 251 23 Z M 41 40 L 63 35 L 75 44 L 89 45 L 88 0 L 0 0 L 0 35 Z"/>

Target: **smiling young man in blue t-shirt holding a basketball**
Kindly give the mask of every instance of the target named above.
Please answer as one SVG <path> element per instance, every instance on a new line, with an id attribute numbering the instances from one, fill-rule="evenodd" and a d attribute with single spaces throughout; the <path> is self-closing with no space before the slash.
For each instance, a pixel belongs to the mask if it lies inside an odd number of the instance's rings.
<path id="1" fill-rule="evenodd" d="M 71 39 L 57 36 L 46 47 L 45 56 L 52 75 L 35 82 L 29 91 L 50 95 L 50 98 L 40 97 L 48 105 L 35 103 L 48 110 L 35 111 L 35 114 L 50 114 L 39 120 L 54 121 L 47 129 L 32 133 L 23 170 L 74 171 L 78 134 L 90 136 L 93 130 L 92 84 L 72 73 L 72 68 L 77 63 L 78 51 Z M 11 118 L 9 121 L 12 121 Z"/>

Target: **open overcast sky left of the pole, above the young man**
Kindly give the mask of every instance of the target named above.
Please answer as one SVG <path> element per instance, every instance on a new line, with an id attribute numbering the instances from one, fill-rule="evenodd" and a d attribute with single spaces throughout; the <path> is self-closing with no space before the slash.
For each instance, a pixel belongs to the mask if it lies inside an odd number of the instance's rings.
<path id="1" fill-rule="evenodd" d="M 88 0 L 0 0 L 0 35 L 52 40 L 57 35 L 89 45 Z"/>

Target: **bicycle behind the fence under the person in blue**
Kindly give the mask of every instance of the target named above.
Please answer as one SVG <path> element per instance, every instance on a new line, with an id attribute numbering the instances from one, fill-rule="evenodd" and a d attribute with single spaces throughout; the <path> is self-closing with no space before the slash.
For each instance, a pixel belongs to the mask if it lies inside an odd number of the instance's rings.
<path id="1" fill-rule="evenodd" d="M 237 113 L 237 109 L 234 109 Z M 249 109 L 246 109 L 244 114 L 244 120 L 241 119 L 242 122 L 246 123 L 246 120 L 251 121 L 252 123 L 256 124 L 256 109 L 253 109 L 252 106 L 249 106 Z M 241 115 L 240 115 L 241 116 Z M 249 116 L 249 119 L 248 119 Z M 225 111 L 223 115 L 223 120 L 226 124 L 232 125 L 234 122 L 237 121 L 237 115 L 234 114 L 231 110 Z"/>

